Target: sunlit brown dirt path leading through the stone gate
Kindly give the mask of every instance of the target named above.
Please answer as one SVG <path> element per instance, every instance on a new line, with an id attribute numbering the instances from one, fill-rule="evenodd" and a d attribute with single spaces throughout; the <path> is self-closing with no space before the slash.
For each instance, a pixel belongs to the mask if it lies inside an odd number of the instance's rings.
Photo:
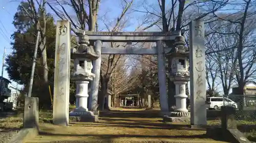
<path id="1" fill-rule="evenodd" d="M 165 124 L 156 110 L 100 112 L 100 123 L 70 122 L 69 127 L 41 124 L 27 142 L 222 142 L 186 124 Z"/>

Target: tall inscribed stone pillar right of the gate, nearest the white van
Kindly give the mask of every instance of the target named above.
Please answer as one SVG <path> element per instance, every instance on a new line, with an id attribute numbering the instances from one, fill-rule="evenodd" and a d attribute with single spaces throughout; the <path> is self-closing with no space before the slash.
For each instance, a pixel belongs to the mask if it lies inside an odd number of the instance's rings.
<path id="1" fill-rule="evenodd" d="M 191 125 L 206 125 L 206 73 L 204 22 L 189 24 L 189 68 Z"/>

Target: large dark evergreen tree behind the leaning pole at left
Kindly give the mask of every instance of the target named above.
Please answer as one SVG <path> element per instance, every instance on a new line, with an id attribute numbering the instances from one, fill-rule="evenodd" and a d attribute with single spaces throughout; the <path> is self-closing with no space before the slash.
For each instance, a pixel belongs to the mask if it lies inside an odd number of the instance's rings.
<path id="1" fill-rule="evenodd" d="M 19 84 L 25 85 L 23 94 L 28 92 L 31 69 L 33 63 L 33 54 L 36 42 L 36 27 L 30 22 L 23 8 L 30 11 L 28 3 L 22 2 L 14 16 L 13 25 L 16 31 L 12 34 L 13 42 L 11 43 L 13 52 L 7 55 L 6 70 L 9 78 Z M 46 46 L 47 46 L 47 63 L 48 63 L 48 83 L 44 81 L 42 65 L 40 64 L 41 51 L 38 48 L 36 67 L 34 73 L 34 82 L 32 88 L 32 96 L 39 98 L 41 107 L 49 108 L 51 106 L 51 98 L 49 94 L 49 85 L 53 94 L 54 82 L 54 57 L 55 57 L 55 32 L 56 26 L 52 15 L 47 14 L 46 23 Z M 71 95 L 74 95 L 74 83 L 71 82 Z M 73 96 L 72 96 L 73 97 Z"/>

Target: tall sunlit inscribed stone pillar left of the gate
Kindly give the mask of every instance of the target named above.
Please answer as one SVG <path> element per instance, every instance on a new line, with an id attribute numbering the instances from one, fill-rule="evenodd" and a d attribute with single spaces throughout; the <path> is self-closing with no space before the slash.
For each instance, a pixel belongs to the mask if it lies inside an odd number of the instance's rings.
<path id="1" fill-rule="evenodd" d="M 58 20 L 56 25 L 53 124 L 69 124 L 70 23 Z"/>

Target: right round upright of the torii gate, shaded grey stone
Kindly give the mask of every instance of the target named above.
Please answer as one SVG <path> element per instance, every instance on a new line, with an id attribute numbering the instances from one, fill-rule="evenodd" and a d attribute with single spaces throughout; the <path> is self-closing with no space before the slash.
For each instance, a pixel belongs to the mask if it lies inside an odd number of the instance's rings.
<path id="1" fill-rule="evenodd" d="M 167 89 L 166 89 L 166 71 L 165 71 L 165 58 L 163 41 L 157 41 L 157 65 L 158 65 L 158 82 L 159 82 L 159 93 L 160 93 L 160 108 L 162 115 L 168 114 L 168 100 L 167 100 Z"/>

